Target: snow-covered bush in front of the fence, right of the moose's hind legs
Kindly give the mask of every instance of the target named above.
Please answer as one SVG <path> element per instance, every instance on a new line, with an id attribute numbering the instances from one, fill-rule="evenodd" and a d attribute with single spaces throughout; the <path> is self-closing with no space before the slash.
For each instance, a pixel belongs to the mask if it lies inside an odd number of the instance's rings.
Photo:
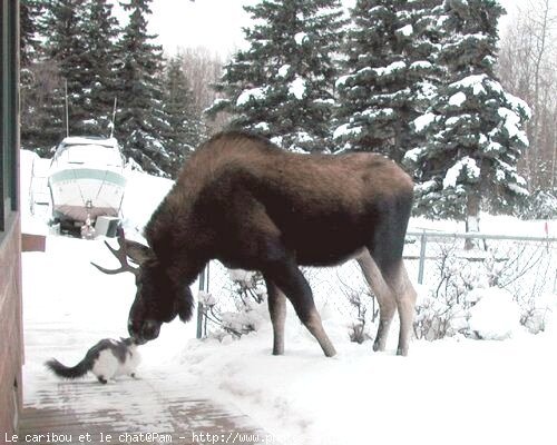
<path id="1" fill-rule="evenodd" d="M 498 249 L 495 244 L 463 250 L 458 243 L 439 245 L 437 279 L 417 301 L 416 337 L 432 340 L 461 333 L 507 338 L 520 324 L 534 333 L 543 330 L 547 305 L 534 293 L 516 288 L 517 278 L 537 264 L 539 255 L 526 255 L 520 246 Z"/>

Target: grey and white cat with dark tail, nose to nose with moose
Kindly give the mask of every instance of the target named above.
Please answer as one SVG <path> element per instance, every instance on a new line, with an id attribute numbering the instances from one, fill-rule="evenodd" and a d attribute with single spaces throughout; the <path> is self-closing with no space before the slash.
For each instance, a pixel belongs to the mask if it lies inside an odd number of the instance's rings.
<path id="1" fill-rule="evenodd" d="M 46 362 L 45 366 L 62 378 L 79 378 L 90 370 L 100 383 L 106 384 L 120 375 L 135 377 L 140 360 L 137 344 L 133 338 L 105 338 L 92 346 L 74 367 L 67 367 L 56 358 Z"/>

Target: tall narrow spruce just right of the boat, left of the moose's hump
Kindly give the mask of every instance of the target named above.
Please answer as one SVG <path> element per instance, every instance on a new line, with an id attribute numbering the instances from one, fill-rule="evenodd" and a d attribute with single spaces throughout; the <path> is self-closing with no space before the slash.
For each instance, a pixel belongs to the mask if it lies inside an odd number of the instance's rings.
<path id="1" fill-rule="evenodd" d="M 118 110 L 115 136 L 124 155 L 131 157 L 146 171 L 169 176 L 172 157 L 164 147 L 162 135 L 168 122 L 163 110 L 163 52 L 147 33 L 150 0 L 120 3 L 129 12 L 119 42 Z"/>

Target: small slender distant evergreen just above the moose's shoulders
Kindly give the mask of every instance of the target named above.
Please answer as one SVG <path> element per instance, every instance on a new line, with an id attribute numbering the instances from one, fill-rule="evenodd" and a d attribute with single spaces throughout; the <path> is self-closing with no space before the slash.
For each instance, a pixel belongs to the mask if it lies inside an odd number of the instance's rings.
<path id="1" fill-rule="evenodd" d="M 205 126 L 195 111 L 193 92 L 183 66 L 180 56 L 169 59 L 164 85 L 164 109 L 168 120 L 165 147 L 172 158 L 168 172 L 173 178 L 206 134 Z"/>

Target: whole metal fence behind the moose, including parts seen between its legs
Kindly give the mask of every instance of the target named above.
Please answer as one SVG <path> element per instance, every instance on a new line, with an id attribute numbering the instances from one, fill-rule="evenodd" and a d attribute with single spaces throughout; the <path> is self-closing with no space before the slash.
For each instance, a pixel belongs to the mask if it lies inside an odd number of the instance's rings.
<path id="1" fill-rule="evenodd" d="M 528 310 L 536 300 L 557 293 L 556 241 L 551 237 L 411 231 L 405 238 L 404 263 L 419 294 L 444 293 L 446 297 L 447 293 L 465 294 L 478 286 L 495 286 L 507 289 Z M 375 299 L 355 261 L 303 268 L 303 273 L 317 308 L 334 310 L 348 320 L 367 317 L 374 322 Z M 261 277 L 231 277 L 217 261 L 207 266 L 199 289 L 212 297 L 211 313 L 198 313 L 199 337 L 206 334 L 207 325 L 222 322 L 218 314 L 241 313 L 246 300 L 261 300 L 265 291 Z"/>

